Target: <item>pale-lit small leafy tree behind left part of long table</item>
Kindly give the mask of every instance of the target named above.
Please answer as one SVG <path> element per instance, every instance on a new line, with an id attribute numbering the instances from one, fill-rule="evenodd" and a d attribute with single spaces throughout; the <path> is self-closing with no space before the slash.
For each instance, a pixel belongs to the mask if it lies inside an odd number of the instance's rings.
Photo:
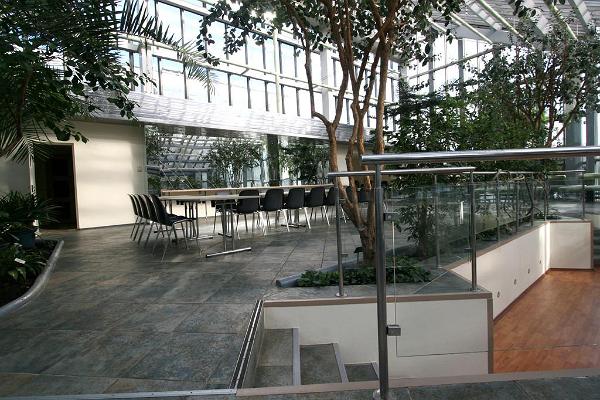
<path id="1" fill-rule="evenodd" d="M 262 161 L 262 144 L 250 139 L 221 138 L 207 154 L 213 187 L 240 187 L 244 169 L 254 168 Z"/>

